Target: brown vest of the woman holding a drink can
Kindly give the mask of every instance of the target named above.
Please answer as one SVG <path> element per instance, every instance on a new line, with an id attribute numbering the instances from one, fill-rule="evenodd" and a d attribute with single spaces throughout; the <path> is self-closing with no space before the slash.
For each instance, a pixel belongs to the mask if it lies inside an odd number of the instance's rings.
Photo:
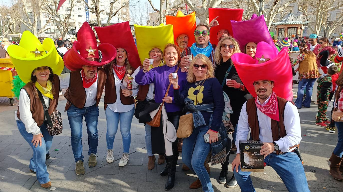
<path id="1" fill-rule="evenodd" d="M 113 63 L 109 63 L 105 66 L 105 72 L 107 74 L 107 80 L 105 84 L 105 96 L 104 96 L 104 103 L 105 103 L 105 109 L 107 107 L 107 103 L 115 103 L 117 101 L 117 90 L 116 90 L 116 84 L 113 74 Z M 127 73 L 125 73 L 127 75 Z M 124 77 L 125 77 L 124 75 Z M 132 72 L 131 74 L 132 75 Z M 121 83 L 123 82 L 124 78 L 121 80 Z M 119 88 L 119 91 L 121 93 L 121 88 Z M 134 98 L 133 97 L 125 97 L 123 94 L 120 95 L 120 101 L 123 105 L 132 105 L 134 104 Z"/>

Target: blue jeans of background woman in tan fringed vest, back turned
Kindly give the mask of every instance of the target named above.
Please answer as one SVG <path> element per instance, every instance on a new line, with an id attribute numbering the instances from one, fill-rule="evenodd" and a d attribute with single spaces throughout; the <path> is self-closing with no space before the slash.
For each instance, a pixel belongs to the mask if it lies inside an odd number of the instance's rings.
<path id="1" fill-rule="evenodd" d="M 312 88 L 315 84 L 317 78 L 310 79 L 301 79 L 298 84 L 297 99 L 295 100 L 295 106 L 301 108 L 301 105 L 304 107 L 310 107 L 311 97 L 312 97 Z M 306 97 L 303 102 L 304 90 L 306 89 Z"/>

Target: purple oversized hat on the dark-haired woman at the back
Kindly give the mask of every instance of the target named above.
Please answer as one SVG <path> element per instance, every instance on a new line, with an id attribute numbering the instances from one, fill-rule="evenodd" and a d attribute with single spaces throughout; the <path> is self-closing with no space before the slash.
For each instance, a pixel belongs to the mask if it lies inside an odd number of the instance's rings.
<path id="1" fill-rule="evenodd" d="M 276 49 L 263 15 L 257 16 L 253 14 L 251 19 L 246 21 L 231 20 L 231 25 L 234 33 L 233 37 L 238 41 L 241 51 L 244 50 L 247 43 L 259 43 L 261 41 L 267 42 Z"/>

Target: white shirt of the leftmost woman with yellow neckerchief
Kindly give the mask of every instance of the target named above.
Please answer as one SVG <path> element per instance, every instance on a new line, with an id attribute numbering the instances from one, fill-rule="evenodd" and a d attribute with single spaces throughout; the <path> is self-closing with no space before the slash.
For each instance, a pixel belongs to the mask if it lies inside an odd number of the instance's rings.
<path id="1" fill-rule="evenodd" d="M 42 94 L 43 95 L 43 94 Z M 46 106 L 49 106 L 50 100 L 48 97 L 43 95 L 44 102 Z M 25 129 L 27 133 L 32 133 L 33 135 L 38 135 L 40 133 L 40 129 L 32 118 L 32 113 L 30 110 L 30 98 L 28 97 L 27 92 L 25 89 L 20 90 L 20 97 L 19 97 L 19 111 L 20 111 L 20 119 L 17 117 L 17 110 L 14 112 L 14 119 L 18 121 L 22 121 L 25 125 Z M 46 117 L 44 116 L 46 120 Z"/>

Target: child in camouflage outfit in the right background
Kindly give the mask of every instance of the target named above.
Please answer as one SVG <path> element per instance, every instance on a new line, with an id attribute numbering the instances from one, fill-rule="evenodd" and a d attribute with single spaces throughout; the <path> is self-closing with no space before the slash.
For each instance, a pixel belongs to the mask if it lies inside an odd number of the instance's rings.
<path id="1" fill-rule="evenodd" d="M 338 67 L 336 65 L 331 65 L 328 69 L 327 74 L 322 75 L 318 78 L 318 87 L 317 87 L 317 103 L 318 103 L 318 114 L 316 125 L 321 127 L 326 127 L 326 124 L 329 124 L 330 121 L 326 118 L 326 112 L 329 104 L 329 94 L 332 87 L 332 78 L 331 76 L 336 74 Z"/>

